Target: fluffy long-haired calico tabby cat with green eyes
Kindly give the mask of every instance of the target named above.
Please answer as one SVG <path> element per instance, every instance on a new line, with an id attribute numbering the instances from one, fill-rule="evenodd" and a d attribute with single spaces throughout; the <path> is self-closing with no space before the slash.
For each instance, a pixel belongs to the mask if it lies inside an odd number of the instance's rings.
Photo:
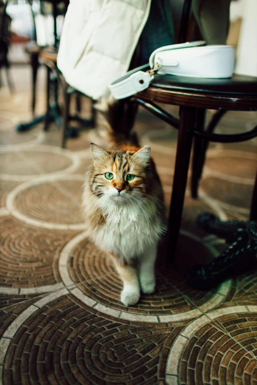
<path id="1" fill-rule="evenodd" d="M 109 253 L 123 281 L 121 301 L 133 305 L 155 290 L 155 260 L 164 232 L 161 181 L 151 148 L 112 151 L 91 145 L 83 209 L 96 246 Z"/>

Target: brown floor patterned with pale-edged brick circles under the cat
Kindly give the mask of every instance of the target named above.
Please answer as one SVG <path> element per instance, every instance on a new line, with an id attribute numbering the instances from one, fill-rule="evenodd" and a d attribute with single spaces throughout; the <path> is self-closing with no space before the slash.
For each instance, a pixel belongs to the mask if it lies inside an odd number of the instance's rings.
<path id="1" fill-rule="evenodd" d="M 38 113 L 43 68 L 39 75 Z M 185 267 L 225 247 L 197 229 L 199 213 L 248 218 L 257 140 L 210 147 L 199 199 L 187 191 L 174 266 L 158 269 L 156 292 L 128 308 L 80 215 L 88 132 L 65 150 L 55 126 L 15 132 L 30 118 L 29 76 L 15 67 L 15 94 L 0 89 L 0 384 L 257 384 L 257 273 L 209 292 L 183 282 Z M 217 130 L 256 123 L 254 112 L 227 113 Z M 136 129 L 152 147 L 168 204 L 176 131 L 141 110 Z"/>

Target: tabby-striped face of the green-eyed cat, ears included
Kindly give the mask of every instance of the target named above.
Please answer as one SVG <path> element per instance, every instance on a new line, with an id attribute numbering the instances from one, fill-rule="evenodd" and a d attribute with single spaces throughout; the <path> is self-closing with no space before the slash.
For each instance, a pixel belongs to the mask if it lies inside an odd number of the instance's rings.
<path id="1" fill-rule="evenodd" d="M 114 152 L 92 144 L 91 191 L 104 201 L 138 200 L 147 191 L 150 151 L 150 147 L 144 147 L 138 151 Z"/>

